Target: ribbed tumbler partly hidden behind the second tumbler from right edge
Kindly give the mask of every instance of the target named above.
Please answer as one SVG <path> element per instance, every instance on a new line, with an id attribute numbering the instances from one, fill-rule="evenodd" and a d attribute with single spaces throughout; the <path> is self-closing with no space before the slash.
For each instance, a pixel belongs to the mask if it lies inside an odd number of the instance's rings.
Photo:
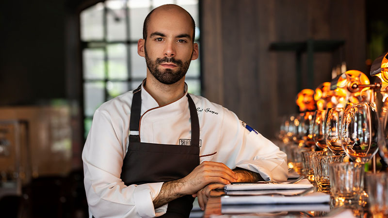
<path id="1" fill-rule="evenodd" d="M 315 182 L 321 189 L 330 188 L 329 164 L 343 161 L 344 156 L 313 156 Z"/>

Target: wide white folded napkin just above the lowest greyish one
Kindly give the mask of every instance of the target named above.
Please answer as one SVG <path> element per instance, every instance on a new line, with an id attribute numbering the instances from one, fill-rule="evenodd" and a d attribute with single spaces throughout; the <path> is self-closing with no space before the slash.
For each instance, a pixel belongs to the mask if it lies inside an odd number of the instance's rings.
<path id="1" fill-rule="evenodd" d="M 304 196 L 251 195 L 223 196 L 221 204 L 317 204 L 330 202 L 330 195 L 314 192 Z"/>

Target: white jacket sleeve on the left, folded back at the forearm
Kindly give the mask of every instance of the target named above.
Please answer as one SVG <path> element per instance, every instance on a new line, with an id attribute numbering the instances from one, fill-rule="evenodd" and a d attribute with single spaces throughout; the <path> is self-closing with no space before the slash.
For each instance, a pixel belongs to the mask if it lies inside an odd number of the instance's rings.
<path id="1" fill-rule="evenodd" d="M 167 206 L 155 210 L 152 201 L 162 183 L 126 186 L 120 179 L 126 149 L 122 135 L 109 113 L 97 109 L 82 151 L 89 211 L 95 218 L 161 216 Z"/>

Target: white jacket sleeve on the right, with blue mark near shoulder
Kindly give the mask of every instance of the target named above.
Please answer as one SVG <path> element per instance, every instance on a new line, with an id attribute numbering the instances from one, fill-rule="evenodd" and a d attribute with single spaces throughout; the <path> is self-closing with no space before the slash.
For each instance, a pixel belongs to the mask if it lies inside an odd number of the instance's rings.
<path id="1" fill-rule="evenodd" d="M 265 180 L 286 181 L 287 156 L 257 131 L 249 131 L 233 112 L 224 109 L 217 160 L 233 169 L 258 172 Z M 227 159 L 224 159 L 227 157 Z"/>

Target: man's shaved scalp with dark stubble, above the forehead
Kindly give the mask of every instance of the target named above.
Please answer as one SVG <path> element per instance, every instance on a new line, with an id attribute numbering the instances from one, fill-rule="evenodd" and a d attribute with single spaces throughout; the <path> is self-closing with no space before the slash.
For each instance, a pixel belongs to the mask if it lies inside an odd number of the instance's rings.
<path id="1" fill-rule="evenodd" d="M 192 35 L 192 41 L 194 43 L 194 36 L 195 36 L 195 22 L 194 22 L 194 19 L 193 17 L 189 14 L 189 12 L 187 12 L 185 9 L 183 9 L 182 7 L 176 5 L 176 4 L 165 4 L 165 5 L 162 5 L 162 6 L 159 6 L 155 9 L 153 9 L 147 16 L 146 16 L 146 19 L 144 20 L 144 24 L 143 24 L 143 39 L 146 39 L 147 38 L 147 34 L 148 34 L 148 26 L 149 26 L 149 23 L 151 22 L 152 20 L 152 17 L 154 14 L 158 13 L 158 12 L 168 12 L 168 13 L 173 13 L 174 15 L 177 15 L 177 19 L 187 19 L 188 20 L 188 23 L 191 23 L 192 27 L 193 27 L 193 35 Z"/>

